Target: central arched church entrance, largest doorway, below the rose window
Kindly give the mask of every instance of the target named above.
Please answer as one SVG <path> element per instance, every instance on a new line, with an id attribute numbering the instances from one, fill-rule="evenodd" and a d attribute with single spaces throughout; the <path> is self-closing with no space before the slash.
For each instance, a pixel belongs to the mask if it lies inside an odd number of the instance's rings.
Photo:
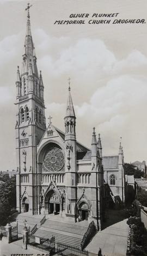
<path id="1" fill-rule="evenodd" d="M 48 210 L 48 214 L 59 214 L 60 201 L 58 194 L 54 190 L 47 192 L 45 197 L 45 210 Z"/>

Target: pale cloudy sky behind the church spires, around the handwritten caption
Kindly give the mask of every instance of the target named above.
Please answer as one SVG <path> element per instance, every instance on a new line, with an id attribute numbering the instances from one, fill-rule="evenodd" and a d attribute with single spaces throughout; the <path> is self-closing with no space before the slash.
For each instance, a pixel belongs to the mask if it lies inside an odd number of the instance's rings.
<path id="1" fill-rule="evenodd" d="M 93 127 L 103 155 L 117 155 L 120 137 L 125 162 L 147 161 L 147 1 L 29 1 L 30 24 L 42 71 L 47 117 L 64 131 L 68 78 L 76 112 L 77 141 L 91 147 Z M 0 0 L 1 170 L 15 169 L 16 70 L 26 33 L 26 0 Z M 93 14 L 116 14 L 109 24 L 88 23 Z M 89 14 L 88 18 L 70 18 Z M 113 24 L 115 19 L 144 23 Z M 85 20 L 84 25 L 54 25 Z"/>

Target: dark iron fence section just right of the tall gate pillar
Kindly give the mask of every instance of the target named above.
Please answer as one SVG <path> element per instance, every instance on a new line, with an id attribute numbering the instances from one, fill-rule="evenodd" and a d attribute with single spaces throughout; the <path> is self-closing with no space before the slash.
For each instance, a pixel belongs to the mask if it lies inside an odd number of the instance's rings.
<path id="1" fill-rule="evenodd" d="M 44 237 L 39 237 L 35 235 L 29 235 L 28 245 L 43 249 L 47 252 L 55 251 L 55 237 L 52 236 L 51 239 L 46 239 Z"/>

